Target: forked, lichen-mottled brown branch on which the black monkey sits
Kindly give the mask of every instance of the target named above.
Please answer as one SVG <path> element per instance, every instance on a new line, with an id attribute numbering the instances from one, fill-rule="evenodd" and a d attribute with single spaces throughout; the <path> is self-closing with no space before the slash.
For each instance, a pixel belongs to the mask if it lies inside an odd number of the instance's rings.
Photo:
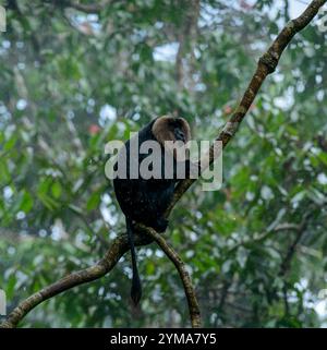
<path id="1" fill-rule="evenodd" d="M 270 48 L 266 53 L 259 59 L 257 70 L 252 77 L 252 81 L 246 88 L 243 98 L 237 108 L 235 112 L 231 116 L 230 120 L 226 123 L 223 130 L 220 132 L 217 141 L 222 142 L 222 146 L 229 143 L 229 141 L 234 136 L 238 131 L 239 124 L 244 119 L 250 106 L 252 105 L 255 96 L 257 95 L 259 87 L 262 86 L 264 80 L 268 74 L 271 74 L 280 59 L 280 56 L 287 45 L 291 41 L 293 36 L 303 29 L 317 14 L 320 7 L 326 3 L 327 0 L 314 0 L 307 7 L 307 9 L 295 20 L 292 20 L 278 35 L 276 40 L 272 43 Z M 104 1 L 107 4 L 107 1 Z M 81 9 L 81 4 L 78 5 Z M 74 5 L 76 8 L 76 4 Z M 89 10 L 89 8 L 88 8 Z M 84 8 L 85 11 L 85 8 Z M 93 12 L 93 11 L 92 11 Z M 208 152 L 208 155 L 205 155 L 205 158 L 209 156 L 209 161 L 213 162 L 214 159 L 214 148 L 211 147 Z M 177 202 L 181 198 L 181 196 L 187 191 L 187 189 L 195 182 L 194 179 L 186 179 L 180 182 L 177 186 L 173 200 L 167 209 L 166 216 L 168 217 Z M 143 227 L 143 230 L 146 231 L 153 239 L 155 239 L 158 244 L 162 248 L 165 253 L 169 256 L 169 258 L 174 263 L 178 268 L 182 281 L 184 283 L 185 293 L 187 295 L 187 302 L 190 306 L 190 314 L 193 317 L 192 325 L 199 325 L 199 313 L 198 306 L 196 302 L 196 298 L 193 291 L 193 287 L 191 285 L 191 279 L 187 274 L 185 274 L 185 268 L 183 262 L 180 257 L 174 253 L 172 249 L 170 249 L 165 240 L 153 229 Z M 144 245 L 152 242 L 152 239 L 147 234 L 137 234 L 135 237 L 135 244 Z M 113 266 L 118 263 L 120 257 L 129 250 L 126 236 L 120 236 L 111 243 L 111 246 L 108 249 L 104 258 L 99 261 L 96 265 L 88 267 L 86 269 L 73 273 L 59 281 L 52 283 L 49 287 L 41 289 L 35 294 L 31 295 L 23 302 L 21 302 L 7 317 L 7 319 L 0 325 L 0 327 L 15 327 L 19 322 L 24 318 L 24 316 L 43 301 L 50 299 L 68 289 L 71 289 L 75 286 L 86 283 L 98 279 L 106 274 L 108 274 Z"/>

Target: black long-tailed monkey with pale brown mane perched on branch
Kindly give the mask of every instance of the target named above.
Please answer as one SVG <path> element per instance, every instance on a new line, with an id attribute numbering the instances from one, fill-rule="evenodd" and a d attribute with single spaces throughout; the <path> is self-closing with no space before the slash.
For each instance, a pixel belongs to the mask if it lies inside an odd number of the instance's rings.
<path id="1" fill-rule="evenodd" d="M 177 176 L 179 165 L 185 168 L 185 177 L 191 171 L 197 171 L 197 166 L 185 158 L 182 164 L 175 159 L 173 152 L 173 177 L 164 178 L 165 153 L 171 152 L 165 147 L 165 141 L 181 141 L 187 143 L 191 140 L 190 125 L 183 118 L 159 117 L 144 126 L 134 137 L 138 137 L 138 164 L 149 154 L 141 154 L 140 147 L 145 141 L 157 141 L 160 145 L 161 178 L 160 179 L 130 179 L 130 153 L 131 140 L 125 143 L 126 153 L 120 154 L 118 159 L 126 162 L 126 179 L 116 178 L 113 186 L 117 200 L 126 218 L 126 230 L 132 255 L 133 279 L 131 298 L 135 305 L 138 304 L 142 295 L 141 280 L 137 270 L 136 254 L 134 248 L 133 222 L 142 222 L 154 228 L 158 232 L 167 229 L 168 220 L 164 217 L 169 203 L 172 200 L 173 190 L 180 180 Z M 133 159 L 131 159 L 133 161 Z M 116 168 L 117 170 L 118 168 Z"/>

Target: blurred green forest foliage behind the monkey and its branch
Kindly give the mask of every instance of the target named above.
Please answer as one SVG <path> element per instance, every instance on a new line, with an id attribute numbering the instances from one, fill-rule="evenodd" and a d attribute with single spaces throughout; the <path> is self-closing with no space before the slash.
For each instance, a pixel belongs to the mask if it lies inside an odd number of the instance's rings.
<path id="1" fill-rule="evenodd" d="M 155 116 L 213 140 L 258 57 L 305 2 L 4 1 L 0 34 L 0 288 L 9 311 L 96 263 L 124 230 L 106 142 Z M 207 327 L 326 326 L 326 33 L 298 35 L 223 154 L 223 184 L 196 183 L 167 237 Z M 190 326 L 181 281 L 152 244 L 106 277 L 35 309 L 24 327 Z"/>

